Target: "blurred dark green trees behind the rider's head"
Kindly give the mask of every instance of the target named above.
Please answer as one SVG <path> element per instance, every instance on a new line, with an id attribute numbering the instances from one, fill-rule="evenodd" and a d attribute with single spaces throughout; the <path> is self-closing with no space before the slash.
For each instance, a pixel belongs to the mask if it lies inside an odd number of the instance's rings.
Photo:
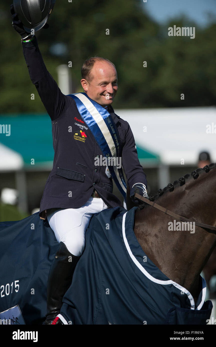
<path id="1" fill-rule="evenodd" d="M 201 29 L 182 17 L 159 26 L 143 12 L 141 3 L 57 0 L 50 27 L 36 33 L 53 78 L 57 81 L 59 64 L 72 61 L 71 76 L 76 91 L 82 91 L 83 62 L 101 56 L 116 65 L 119 90 L 114 108 L 214 105 L 216 24 Z M 46 112 L 28 75 L 20 37 L 11 25 L 10 4 L 1 3 L 0 15 L 1 113 Z M 195 38 L 168 36 L 168 27 L 173 25 L 195 26 Z M 35 100 L 31 100 L 32 93 Z"/>

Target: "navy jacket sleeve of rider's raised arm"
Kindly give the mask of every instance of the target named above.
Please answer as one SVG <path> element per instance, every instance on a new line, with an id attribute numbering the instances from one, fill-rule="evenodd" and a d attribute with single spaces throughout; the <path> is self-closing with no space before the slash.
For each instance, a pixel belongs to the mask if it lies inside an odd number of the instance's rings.
<path id="1" fill-rule="evenodd" d="M 63 113 L 69 106 L 66 95 L 61 93 L 56 81 L 45 67 L 36 37 L 31 42 L 22 42 L 23 54 L 32 83 L 51 120 Z"/>

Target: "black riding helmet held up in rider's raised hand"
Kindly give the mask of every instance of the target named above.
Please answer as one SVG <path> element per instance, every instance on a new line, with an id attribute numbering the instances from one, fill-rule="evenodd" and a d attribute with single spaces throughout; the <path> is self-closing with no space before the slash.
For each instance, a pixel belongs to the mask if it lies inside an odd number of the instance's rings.
<path id="1" fill-rule="evenodd" d="M 14 10 L 27 33 L 40 30 L 47 22 L 56 0 L 13 0 Z"/>

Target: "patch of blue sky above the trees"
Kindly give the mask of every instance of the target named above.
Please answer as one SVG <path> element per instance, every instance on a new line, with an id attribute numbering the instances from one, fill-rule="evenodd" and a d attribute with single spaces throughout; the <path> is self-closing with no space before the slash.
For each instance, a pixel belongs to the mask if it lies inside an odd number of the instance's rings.
<path id="1" fill-rule="evenodd" d="M 147 0 L 143 8 L 159 23 L 166 23 L 169 18 L 182 13 L 202 27 L 216 22 L 216 0 Z"/>

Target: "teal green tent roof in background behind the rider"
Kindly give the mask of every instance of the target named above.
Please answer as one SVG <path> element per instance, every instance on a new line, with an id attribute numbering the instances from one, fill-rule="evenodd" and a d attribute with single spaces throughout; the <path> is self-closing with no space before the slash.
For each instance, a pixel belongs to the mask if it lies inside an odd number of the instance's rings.
<path id="1" fill-rule="evenodd" d="M 0 133 L 0 143 L 20 153 L 25 166 L 31 166 L 31 159 L 37 166 L 52 166 L 54 150 L 52 125 L 47 113 L 25 115 L 1 115 L 0 125 L 10 124 L 10 136 Z M 1 127 L 0 127 L 1 131 Z M 159 156 L 137 146 L 140 162 L 158 162 Z"/>

